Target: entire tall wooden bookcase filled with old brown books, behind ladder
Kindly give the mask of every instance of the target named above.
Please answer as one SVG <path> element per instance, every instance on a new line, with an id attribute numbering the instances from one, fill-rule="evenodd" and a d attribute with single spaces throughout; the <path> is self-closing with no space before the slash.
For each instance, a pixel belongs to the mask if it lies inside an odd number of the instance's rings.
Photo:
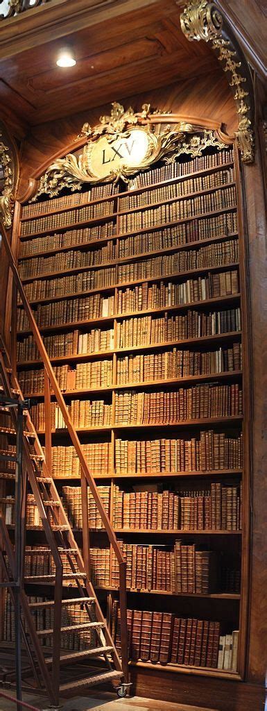
<path id="1" fill-rule="evenodd" d="M 127 190 L 119 181 L 23 205 L 18 219 L 26 294 L 126 556 L 131 666 L 158 673 L 244 675 L 238 183 L 237 151 L 225 144 L 141 171 Z M 42 363 L 20 303 L 17 310 L 18 379 L 36 399 L 45 444 Z M 80 469 L 53 393 L 51 419 L 53 477 L 82 546 Z M 11 486 L 1 492 L 10 529 Z M 27 545 L 40 547 L 37 560 L 28 552 L 33 594 L 49 595 L 31 498 L 28 512 Z M 118 571 L 90 498 L 88 515 L 92 579 L 119 646 Z M 6 638 L 10 629 L 9 620 Z"/>

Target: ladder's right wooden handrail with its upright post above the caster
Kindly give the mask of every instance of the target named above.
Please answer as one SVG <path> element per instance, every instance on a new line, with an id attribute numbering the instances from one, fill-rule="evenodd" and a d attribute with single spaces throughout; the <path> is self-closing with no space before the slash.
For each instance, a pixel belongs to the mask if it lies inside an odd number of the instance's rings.
<path id="1" fill-rule="evenodd" d="M 123 668 L 124 668 L 124 675 L 127 680 L 128 664 L 127 664 L 127 624 L 126 624 L 126 561 L 124 560 L 124 556 L 121 552 L 119 542 L 118 542 L 116 535 L 114 533 L 114 530 L 111 526 L 109 516 L 107 515 L 106 511 L 104 510 L 102 498 L 99 496 L 99 493 L 97 490 L 97 485 L 94 482 L 92 474 L 89 471 L 87 461 L 85 459 L 85 455 L 82 451 L 79 437 L 77 435 L 74 425 L 72 424 L 72 419 L 70 418 L 69 412 L 68 412 L 67 407 L 65 405 L 65 400 L 62 397 L 62 392 L 61 392 L 60 387 L 58 385 L 58 380 L 55 377 L 55 373 L 54 373 L 54 370 L 53 370 L 52 365 L 50 363 L 48 353 L 45 349 L 43 340 L 40 336 L 40 331 L 39 331 L 38 326 L 36 324 L 36 320 L 34 319 L 33 311 L 31 310 L 31 306 L 28 302 L 26 293 L 23 289 L 21 277 L 18 274 L 18 269 L 16 267 L 16 262 L 13 257 L 13 252 L 12 252 L 11 247 L 9 245 L 9 238 L 6 234 L 6 228 L 4 227 L 3 223 L 0 223 L 0 231 L 1 231 L 1 235 L 2 235 L 3 245 L 6 250 L 6 255 L 9 260 L 9 267 L 11 268 L 11 272 L 13 273 L 13 277 L 14 277 L 14 281 L 16 283 L 16 287 L 18 289 L 18 293 L 21 296 L 21 301 L 23 303 L 24 309 L 25 309 L 26 314 L 28 316 L 28 321 L 29 321 L 29 324 L 30 324 L 32 332 L 33 332 L 33 338 L 36 341 L 36 346 L 37 346 L 38 351 L 40 353 L 40 358 L 41 358 L 41 360 L 43 360 L 45 373 L 48 376 L 48 378 L 50 380 L 50 384 L 53 387 L 53 392 L 55 394 L 56 400 L 58 401 L 58 405 L 59 405 L 60 410 L 62 412 L 62 417 L 63 417 L 64 422 L 66 424 L 67 430 L 70 434 L 70 439 L 72 440 L 72 444 L 75 448 L 78 459 L 80 460 L 82 475 L 85 477 L 85 480 L 87 481 L 87 484 L 89 485 L 89 487 L 91 489 L 92 496 L 93 496 L 94 501 L 97 506 L 97 510 L 99 511 L 100 517 L 102 519 L 102 523 L 104 525 L 104 528 L 107 530 L 109 542 L 110 542 L 111 546 L 113 547 L 114 553 L 116 555 L 116 559 L 119 563 L 119 582 L 120 582 L 119 598 L 120 598 L 120 608 L 121 608 L 121 658 L 122 658 L 122 663 L 123 663 Z M 87 571 L 87 573 L 88 573 L 88 571 Z"/>

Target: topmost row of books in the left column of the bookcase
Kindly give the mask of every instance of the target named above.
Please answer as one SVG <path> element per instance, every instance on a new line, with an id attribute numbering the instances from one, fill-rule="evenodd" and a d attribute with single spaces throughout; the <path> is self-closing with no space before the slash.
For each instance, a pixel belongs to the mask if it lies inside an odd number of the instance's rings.
<path id="1" fill-rule="evenodd" d="M 28 205 L 23 205 L 21 210 L 21 218 L 33 218 L 42 215 L 43 213 L 53 212 L 53 210 L 66 210 L 75 208 L 77 205 L 83 205 L 90 201 L 103 200 L 111 195 L 116 195 L 119 188 L 115 183 L 103 183 L 87 190 L 85 193 L 70 193 L 69 195 L 60 196 L 60 198 L 50 198 L 49 200 L 32 202 Z"/>

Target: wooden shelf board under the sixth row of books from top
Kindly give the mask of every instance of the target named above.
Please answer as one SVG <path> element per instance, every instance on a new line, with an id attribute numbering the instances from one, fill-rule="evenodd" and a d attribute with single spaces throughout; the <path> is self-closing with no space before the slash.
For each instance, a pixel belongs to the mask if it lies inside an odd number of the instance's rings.
<path id="1" fill-rule="evenodd" d="M 125 311 L 124 314 L 112 314 L 112 316 L 96 316 L 94 319 L 84 319 L 83 321 L 70 321 L 65 322 L 65 324 L 55 324 L 53 326 L 40 326 L 40 333 L 55 333 L 56 331 L 62 330 L 75 330 L 75 328 L 80 328 L 80 326 L 89 326 L 89 324 L 110 324 L 111 321 L 121 321 L 128 318 L 133 318 L 133 316 L 153 316 L 153 314 L 170 314 L 176 313 L 177 311 L 188 311 L 192 309 L 195 311 L 197 307 L 202 307 L 206 310 L 209 306 L 229 306 L 236 304 L 240 299 L 240 294 L 229 294 L 228 296 L 217 296 L 212 297 L 212 299 L 202 299 L 201 301 L 189 301 L 187 304 L 179 304 L 178 306 L 160 306 L 158 309 L 145 309 L 143 311 Z M 219 311 L 219 309 L 217 309 Z M 17 336 L 26 336 L 31 333 L 31 328 L 26 328 L 25 330 L 18 331 Z"/>

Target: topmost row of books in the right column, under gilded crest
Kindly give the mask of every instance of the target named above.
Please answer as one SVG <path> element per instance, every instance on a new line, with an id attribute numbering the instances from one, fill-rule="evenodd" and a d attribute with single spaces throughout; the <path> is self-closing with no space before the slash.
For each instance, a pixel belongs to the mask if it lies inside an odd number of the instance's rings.
<path id="1" fill-rule="evenodd" d="M 225 148 L 214 154 L 206 154 L 195 158 L 190 157 L 185 161 L 168 163 L 159 168 L 151 168 L 149 171 L 140 171 L 138 175 L 131 178 L 128 183 L 128 189 L 134 190 L 135 188 L 146 188 L 147 186 L 153 185 L 153 183 L 165 183 L 165 181 L 173 180 L 173 178 L 185 176 L 187 173 L 197 173 L 198 171 L 205 171 L 215 168 L 216 166 L 223 166 L 225 163 L 232 162 L 233 160 L 233 149 Z"/>

